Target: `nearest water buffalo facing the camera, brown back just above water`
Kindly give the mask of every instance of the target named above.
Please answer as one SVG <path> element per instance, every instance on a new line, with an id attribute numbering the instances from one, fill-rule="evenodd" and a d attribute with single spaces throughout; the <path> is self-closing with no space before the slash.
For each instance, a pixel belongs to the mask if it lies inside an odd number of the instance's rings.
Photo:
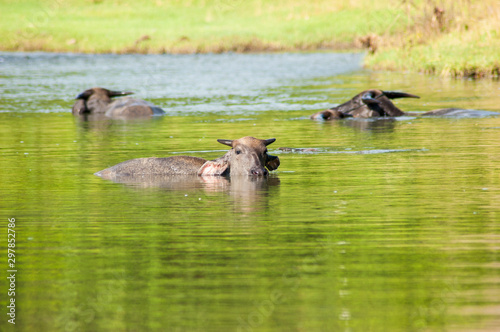
<path id="1" fill-rule="evenodd" d="M 174 156 L 169 158 L 138 158 L 124 161 L 95 173 L 102 178 L 114 180 L 120 176 L 138 175 L 255 175 L 267 176 L 268 171 L 278 168 L 278 157 L 267 154 L 267 146 L 276 139 L 266 140 L 243 137 L 237 140 L 218 139 L 230 146 L 225 155 L 214 160 L 198 157 Z"/>

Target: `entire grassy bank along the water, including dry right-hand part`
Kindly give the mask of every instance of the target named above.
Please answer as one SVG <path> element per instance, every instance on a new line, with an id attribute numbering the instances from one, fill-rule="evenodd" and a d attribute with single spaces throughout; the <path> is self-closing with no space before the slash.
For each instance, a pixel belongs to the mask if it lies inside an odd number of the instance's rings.
<path id="1" fill-rule="evenodd" d="M 368 48 L 371 68 L 492 76 L 498 75 L 500 62 L 499 11 L 498 0 L 0 0 L 0 49 L 195 53 Z"/>

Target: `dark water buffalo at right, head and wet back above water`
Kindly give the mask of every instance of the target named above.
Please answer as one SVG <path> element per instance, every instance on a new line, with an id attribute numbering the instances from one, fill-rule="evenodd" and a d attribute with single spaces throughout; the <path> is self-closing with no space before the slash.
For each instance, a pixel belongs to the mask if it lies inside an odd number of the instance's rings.
<path id="1" fill-rule="evenodd" d="M 460 108 L 441 108 L 426 113 L 405 113 L 397 108 L 391 101 L 396 98 L 420 98 L 406 92 L 383 91 L 377 89 L 365 90 L 351 100 L 330 109 L 317 112 L 311 115 L 313 120 L 335 120 L 348 117 L 354 118 L 375 118 L 375 117 L 397 117 L 403 115 L 410 116 L 471 116 L 476 110 L 466 110 Z M 482 112 L 485 113 L 485 112 Z M 486 112 L 492 113 L 493 112 Z M 481 115 L 481 114 L 480 114 Z"/>

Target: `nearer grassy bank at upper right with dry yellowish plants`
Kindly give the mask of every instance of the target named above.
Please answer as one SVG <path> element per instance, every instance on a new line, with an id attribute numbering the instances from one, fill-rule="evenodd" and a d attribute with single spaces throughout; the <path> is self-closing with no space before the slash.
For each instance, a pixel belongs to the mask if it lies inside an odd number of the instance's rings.
<path id="1" fill-rule="evenodd" d="M 454 77 L 499 77 L 500 1 L 444 0 L 407 6 L 403 33 L 375 37 L 374 69 Z"/>

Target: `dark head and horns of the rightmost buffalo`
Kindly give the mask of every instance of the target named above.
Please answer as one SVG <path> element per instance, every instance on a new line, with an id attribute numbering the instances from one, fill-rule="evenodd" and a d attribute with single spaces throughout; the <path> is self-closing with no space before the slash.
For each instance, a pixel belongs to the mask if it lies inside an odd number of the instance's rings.
<path id="1" fill-rule="evenodd" d="M 311 115 L 313 120 L 333 120 L 346 117 L 373 118 L 379 116 L 402 116 L 403 111 L 397 108 L 390 99 L 420 98 L 405 92 L 382 91 L 370 89 L 363 91 L 351 100 L 325 111 Z"/>

